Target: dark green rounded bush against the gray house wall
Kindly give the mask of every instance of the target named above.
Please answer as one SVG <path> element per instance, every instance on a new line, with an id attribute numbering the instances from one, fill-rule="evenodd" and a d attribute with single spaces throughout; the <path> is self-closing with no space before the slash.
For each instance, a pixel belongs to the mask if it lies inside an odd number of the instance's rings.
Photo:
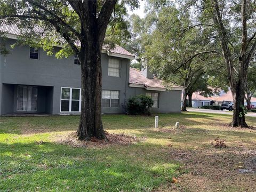
<path id="1" fill-rule="evenodd" d="M 154 101 L 150 97 L 140 94 L 128 100 L 127 110 L 132 115 L 150 115 L 153 104 Z"/>

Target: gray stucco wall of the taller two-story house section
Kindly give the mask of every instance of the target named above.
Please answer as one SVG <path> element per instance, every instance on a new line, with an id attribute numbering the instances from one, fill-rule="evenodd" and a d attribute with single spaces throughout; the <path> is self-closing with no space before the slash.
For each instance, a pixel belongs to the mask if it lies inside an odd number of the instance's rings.
<path id="1" fill-rule="evenodd" d="M 48 97 L 47 103 L 41 99 L 41 105 L 38 107 L 38 113 L 49 111 L 52 114 L 60 114 L 60 94 L 61 87 L 81 88 L 81 66 L 74 64 L 74 57 L 57 59 L 54 54 L 60 49 L 54 47 L 53 55 L 47 55 L 42 49 L 39 50 L 39 59 L 29 59 L 29 46 L 15 46 L 11 49 L 10 45 L 15 43 L 15 39 L 5 41 L 6 49 L 10 54 L 1 55 L 0 57 L 0 114 L 15 112 L 17 100 L 13 96 L 13 106 L 2 105 L 2 100 L 7 97 L 7 92 L 3 90 L 2 84 L 15 85 L 35 85 L 35 86 L 52 86 L 51 92 L 39 92 L 38 97 Z M 3 43 L 3 42 L 2 42 Z M 120 103 L 117 108 L 102 108 L 102 113 L 123 113 L 125 86 L 127 85 L 127 67 L 130 65 L 129 59 L 116 58 L 121 60 L 121 77 L 108 76 L 108 59 L 115 58 L 109 55 L 101 54 L 102 63 L 102 89 L 120 91 Z M 6 89 L 6 87 L 4 87 Z M 15 90 L 14 90 L 15 91 Z M 41 91 L 41 90 L 40 90 Z M 5 93 L 4 93 L 5 92 Z M 39 93 L 42 95 L 39 96 Z M 16 93 L 17 94 L 17 93 Z M 50 99 L 49 97 L 52 97 Z M 40 98 L 38 98 L 40 99 Z M 16 100 L 16 101 L 15 101 Z M 44 107 L 42 106 L 44 105 Z M 7 109 L 8 108 L 8 109 Z M 11 111 L 13 110 L 13 111 Z"/>

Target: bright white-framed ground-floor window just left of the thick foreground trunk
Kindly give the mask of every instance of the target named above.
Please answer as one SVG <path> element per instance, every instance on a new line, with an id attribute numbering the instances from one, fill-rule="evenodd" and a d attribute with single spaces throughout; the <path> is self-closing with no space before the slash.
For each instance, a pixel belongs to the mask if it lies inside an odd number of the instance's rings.
<path id="1" fill-rule="evenodd" d="M 61 88 L 61 112 L 80 112 L 81 111 L 81 89 Z"/>

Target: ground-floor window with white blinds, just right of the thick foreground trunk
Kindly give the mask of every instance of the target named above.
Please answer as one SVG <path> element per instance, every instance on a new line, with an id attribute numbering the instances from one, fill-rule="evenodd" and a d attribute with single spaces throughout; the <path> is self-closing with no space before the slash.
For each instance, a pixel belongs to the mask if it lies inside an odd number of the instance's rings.
<path id="1" fill-rule="evenodd" d="M 119 107 L 119 91 L 102 90 L 102 107 Z"/>

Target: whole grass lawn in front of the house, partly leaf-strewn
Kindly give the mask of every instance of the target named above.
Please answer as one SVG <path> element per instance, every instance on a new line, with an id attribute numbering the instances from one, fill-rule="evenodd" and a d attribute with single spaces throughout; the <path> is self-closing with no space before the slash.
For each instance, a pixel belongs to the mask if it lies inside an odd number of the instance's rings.
<path id="1" fill-rule="evenodd" d="M 57 141 L 76 130 L 79 116 L 1 117 L 0 191 L 256 189 L 256 130 L 231 129 L 230 115 L 160 114 L 160 129 L 154 116 L 102 118 L 108 133 L 138 142 L 73 147 Z M 256 118 L 246 121 L 256 127 Z M 226 148 L 214 147 L 217 137 Z"/>

